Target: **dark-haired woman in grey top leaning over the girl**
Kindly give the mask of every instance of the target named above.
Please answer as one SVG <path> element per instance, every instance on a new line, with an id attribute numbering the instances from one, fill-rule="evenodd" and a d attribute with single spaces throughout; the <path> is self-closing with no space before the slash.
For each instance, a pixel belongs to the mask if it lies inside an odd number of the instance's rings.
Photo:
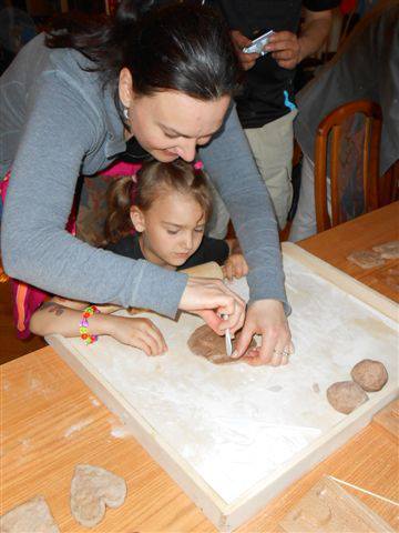
<path id="1" fill-rule="evenodd" d="M 259 333 L 258 362 L 280 364 L 291 344 L 276 222 L 231 105 L 236 80 L 228 32 L 205 8 L 178 3 L 137 18 L 134 2 L 122 1 L 112 23 L 33 39 L 0 82 L 1 175 L 12 169 L 6 271 L 66 298 L 168 316 L 181 309 L 221 334 L 236 331 L 244 303 L 222 282 L 93 249 L 64 229 L 79 173 L 108 167 L 126 141 L 133 157 L 165 162 L 192 161 L 204 145 L 249 266 L 238 355 Z"/>

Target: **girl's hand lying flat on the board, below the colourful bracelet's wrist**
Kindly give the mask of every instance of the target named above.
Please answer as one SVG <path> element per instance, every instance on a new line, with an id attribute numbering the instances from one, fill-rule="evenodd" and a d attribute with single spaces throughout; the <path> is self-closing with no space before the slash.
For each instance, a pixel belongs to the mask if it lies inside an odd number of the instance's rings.
<path id="1" fill-rule="evenodd" d="M 149 319 L 130 319 L 108 315 L 109 334 L 130 346 L 143 350 L 147 355 L 161 355 L 167 351 L 161 331 Z"/>

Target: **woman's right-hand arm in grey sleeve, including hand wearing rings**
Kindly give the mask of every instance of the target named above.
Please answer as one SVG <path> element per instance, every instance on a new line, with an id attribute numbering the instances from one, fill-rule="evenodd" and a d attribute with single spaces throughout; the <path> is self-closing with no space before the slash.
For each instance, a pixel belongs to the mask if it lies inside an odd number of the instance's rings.
<path id="1" fill-rule="evenodd" d="M 252 363 L 284 364 L 293 344 L 277 222 L 235 109 L 202 158 L 232 215 L 249 269 L 249 304 L 234 355 L 244 355 L 253 335 L 260 334 Z"/>

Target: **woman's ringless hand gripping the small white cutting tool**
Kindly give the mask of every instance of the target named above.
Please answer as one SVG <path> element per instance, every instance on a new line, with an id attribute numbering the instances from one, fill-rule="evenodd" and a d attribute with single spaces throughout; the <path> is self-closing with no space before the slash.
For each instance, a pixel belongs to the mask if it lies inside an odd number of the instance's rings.
<path id="1" fill-rule="evenodd" d="M 227 328 L 232 333 L 239 330 L 245 320 L 244 300 L 223 281 L 211 278 L 190 276 L 178 309 L 198 314 L 219 335 Z"/>

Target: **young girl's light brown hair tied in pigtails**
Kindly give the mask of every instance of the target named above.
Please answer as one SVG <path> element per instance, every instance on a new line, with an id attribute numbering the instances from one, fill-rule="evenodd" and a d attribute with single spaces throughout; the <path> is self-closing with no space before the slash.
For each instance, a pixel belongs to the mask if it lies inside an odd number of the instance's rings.
<path id="1" fill-rule="evenodd" d="M 205 174 L 191 163 L 177 160 L 172 163 L 152 161 L 139 170 L 137 183 L 130 175 L 111 183 L 108 191 L 109 214 L 105 221 L 105 241 L 117 242 L 132 232 L 131 207 L 147 211 L 162 194 L 178 192 L 192 197 L 208 220 L 212 211 L 212 194 Z"/>

